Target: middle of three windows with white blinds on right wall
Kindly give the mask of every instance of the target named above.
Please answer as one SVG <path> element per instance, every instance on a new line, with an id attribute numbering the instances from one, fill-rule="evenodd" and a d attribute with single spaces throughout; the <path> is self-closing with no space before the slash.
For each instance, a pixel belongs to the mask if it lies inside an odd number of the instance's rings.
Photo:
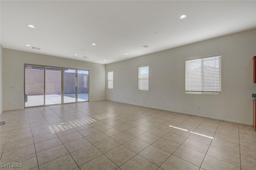
<path id="1" fill-rule="evenodd" d="M 148 91 L 148 66 L 139 67 L 139 90 Z"/>

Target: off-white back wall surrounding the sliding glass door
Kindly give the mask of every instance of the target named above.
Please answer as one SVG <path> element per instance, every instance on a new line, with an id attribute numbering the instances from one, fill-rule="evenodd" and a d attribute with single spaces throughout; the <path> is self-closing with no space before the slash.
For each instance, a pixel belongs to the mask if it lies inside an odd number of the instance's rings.
<path id="1" fill-rule="evenodd" d="M 24 63 L 90 70 L 89 100 L 106 99 L 105 64 L 3 48 L 3 110 L 24 108 Z"/>

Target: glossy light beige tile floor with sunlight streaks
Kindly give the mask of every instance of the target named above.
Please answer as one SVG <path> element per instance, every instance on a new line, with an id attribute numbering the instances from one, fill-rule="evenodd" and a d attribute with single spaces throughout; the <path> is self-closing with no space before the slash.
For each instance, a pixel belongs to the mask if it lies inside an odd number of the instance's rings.
<path id="1" fill-rule="evenodd" d="M 106 100 L 6 111 L 0 121 L 1 170 L 256 169 L 256 132 L 243 124 Z"/>

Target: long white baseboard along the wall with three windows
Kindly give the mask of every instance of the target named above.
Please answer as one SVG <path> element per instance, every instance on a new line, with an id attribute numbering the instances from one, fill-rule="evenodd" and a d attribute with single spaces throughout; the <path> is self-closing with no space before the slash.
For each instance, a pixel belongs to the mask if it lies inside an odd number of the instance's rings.
<path id="1" fill-rule="evenodd" d="M 216 118 L 214 116 L 203 116 L 203 115 L 194 114 L 194 113 L 190 113 L 190 112 L 182 112 L 182 111 L 179 111 L 179 110 L 170 110 L 170 109 L 165 109 L 165 108 L 158 108 L 158 107 L 152 107 L 152 106 L 147 106 L 147 105 L 140 105 L 140 104 L 129 103 L 129 102 L 120 102 L 120 101 L 115 101 L 115 100 L 109 100 L 109 101 L 125 103 L 125 104 L 132 104 L 132 105 L 135 105 L 135 106 L 142 106 L 142 107 L 146 107 L 146 108 L 153 108 L 153 109 L 165 110 L 165 111 L 170 111 L 170 112 L 189 114 L 189 115 L 193 115 L 193 116 L 200 116 L 200 117 L 203 117 L 203 118 L 211 118 L 211 119 L 216 119 L 216 120 L 223 120 L 223 121 L 227 121 L 227 122 L 240 123 L 240 124 L 246 124 L 246 125 L 252 126 L 252 123 L 249 123 L 249 122 L 242 122 L 242 121 L 236 121 L 236 120 L 230 120 L 230 119 Z"/>

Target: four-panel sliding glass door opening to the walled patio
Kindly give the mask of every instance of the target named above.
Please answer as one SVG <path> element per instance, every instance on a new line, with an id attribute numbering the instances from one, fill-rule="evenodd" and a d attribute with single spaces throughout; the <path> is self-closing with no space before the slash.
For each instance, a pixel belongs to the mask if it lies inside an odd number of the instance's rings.
<path id="1" fill-rule="evenodd" d="M 89 71 L 24 65 L 24 106 L 89 101 Z"/>

